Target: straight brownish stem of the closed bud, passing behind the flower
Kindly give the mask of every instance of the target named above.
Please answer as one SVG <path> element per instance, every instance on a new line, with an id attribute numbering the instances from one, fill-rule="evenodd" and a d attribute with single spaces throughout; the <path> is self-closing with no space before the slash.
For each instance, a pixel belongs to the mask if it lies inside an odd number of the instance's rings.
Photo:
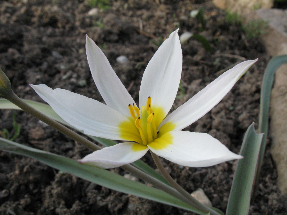
<path id="1" fill-rule="evenodd" d="M 82 144 L 83 146 L 86 146 L 87 148 L 91 149 L 92 151 L 101 149 L 100 146 L 94 144 L 90 140 L 82 137 L 81 135 L 77 134 L 76 132 L 73 132 L 71 129 L 63 126 L 59 122 L 49 118 L 45 114 L 41 113 L 40 111 L 36 110 L 34 107 L 31 107 L 26 102 L 22 101 L 15 93 L 11 90 L 7 95 L 2 96 L 3 98 L 11 101 L 13 104 L 20 107 L 22 110 L 26 111 L 27 113 L 31 114 L 32 116 L 36 117 L 37 119 L 41 120 L 42 122 L 48 124 L 52 128 L 55 128 L 59 132 L 67 135 L 71 139 L 75 140 L 76 142 Z M 187 200 L 182 194 L 180 194 L 176 189 L 170 187 L 169 185 L 163 183 L 162 181 L 159 181 L 158 179 L 152 177 L 151 175 L 145 173 L 144 171 L 134 167 L 131 164 L 126 164 L 121 166 L 124 170 L 130 172 L 131 174 L 135 175 L 136 177 L 154 185 L 158 189 L 161 189 L 162 191 L 165 191 L 166 193 L 169 193 L 171 196 L 174 196 L 175 198 L 178 198 L 182 200 L 183 202 L 190 205 L 190 201 Z"/>

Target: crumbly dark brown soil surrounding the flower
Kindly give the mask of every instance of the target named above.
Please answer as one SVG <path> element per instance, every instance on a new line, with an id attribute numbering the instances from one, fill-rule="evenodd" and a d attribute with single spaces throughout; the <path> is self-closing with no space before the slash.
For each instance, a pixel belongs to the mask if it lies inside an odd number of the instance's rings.
<path id="1" fill-rule="evenodd" d="M 203 7 L 206 26 L 190 17 Z M 210 1 L 113 0 L 94 13 L 83 0 L 0 1 L 0 66 L 21 98 L 43 102 L 29 87 L 44 83 L 102 101 L 85 53 L 88 34 L 106 54 L 113 69 L 135 101 L 144 69 L 158 45 L 179 28 L 205 36 L 212 46 L 190 39 L 182 45 L 182 88 L 172 110 L 183 104 L 230 66 L 259 58 L 228 95 L 200 120 L 185 130 L 206 132 L 238 153 L 247 127 L 258 122 L 263 71 L 270 56 L 255 38 L 247 38 L 240 26 L 226 21 L 226 13 Z M 127 61 L 116 61 L 118 56 Z M 80 159 L 90 151 L 21 111 L 0 111 L 0 130 L 13 134 L 13 113 L 21 125 L 16 142 Z M 285 215 L 287 199 L 276 186 L 276 166 L 267 151 L 252 215 Z M 155 168 L 150 154 L 143 160 Z M 177 182 L 190 193 L 202 188 L 212 205 L 226 210 L 235 161 L 213 167 L 189 168 L 162 159 Z M 112 171 L 126 173 L 116 168 Z M 33 159 L 0 151 L 1 215 L 92 214 L 193 214 L 182 209 L 130 196 L 69 174 Z"/>

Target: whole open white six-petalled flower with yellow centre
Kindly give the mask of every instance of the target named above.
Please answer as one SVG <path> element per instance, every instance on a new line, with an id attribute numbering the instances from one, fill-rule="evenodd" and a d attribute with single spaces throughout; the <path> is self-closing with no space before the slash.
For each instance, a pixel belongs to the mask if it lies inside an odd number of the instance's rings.
<path id="1" fill-rule="evenodd" d="M 95 151 L 79 160 L 80 163 L 106 169 L 119 167 L 140 159 L 149 149 L 189 167 L 206 167 L 242 158 L 209 134 L 181 130 L 210 111 L 257 59 L 226 71 L 166 116 L 181 79 L 182 52 L 177 31 L 163 42 L 146 67 L 139 90 L 139 108 L 106 56 L 88 36 L 88 62 L 106 105 L 64 89 L 31 85 L 61 118 L 85 134 L 128 141 Z"/>

